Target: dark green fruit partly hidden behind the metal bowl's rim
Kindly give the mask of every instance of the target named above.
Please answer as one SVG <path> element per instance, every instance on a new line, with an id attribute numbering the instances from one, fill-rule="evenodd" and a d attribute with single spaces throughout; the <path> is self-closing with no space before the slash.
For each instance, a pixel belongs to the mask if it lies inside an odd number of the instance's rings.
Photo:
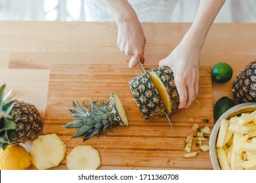
<path id="1" fill-rule="evenodd" d="M 219 99 L 213 108 L 213 112 L 214 112 L 214 118 L 215 120 L 218 120 L 219 117 L 221 117 L 221 115 L 226 112 L 226 110 L 230 109 L 231 107 L 234 107 L 236 104 L 234 103 L 234 101 L 232 101 L 232 99 L 228 98 L 228 97 L 221 97 L 221 99 Z"/>

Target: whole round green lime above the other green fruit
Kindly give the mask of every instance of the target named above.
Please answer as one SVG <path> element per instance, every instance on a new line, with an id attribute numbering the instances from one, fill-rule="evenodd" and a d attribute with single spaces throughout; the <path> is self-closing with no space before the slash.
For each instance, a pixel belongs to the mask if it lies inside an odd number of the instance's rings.
<path id="1" fill-rule="evenodd" d="M 233 69 L 228 63 L 217 63 L 211 69 L 211 78 L 215 82 L 224 83 L 230 80 L 233 75 Z"/>

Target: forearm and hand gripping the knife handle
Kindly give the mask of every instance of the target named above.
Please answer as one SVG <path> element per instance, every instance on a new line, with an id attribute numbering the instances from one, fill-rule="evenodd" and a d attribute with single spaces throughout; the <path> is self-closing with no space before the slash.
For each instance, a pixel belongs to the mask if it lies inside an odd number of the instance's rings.
<path id="1" fill-rule="evenodd" d="M 105 2 L 117 23 L 117 46 L 121 52 L 131 56 L 129 67 L 135 67 L 140 58 L 143 63 L 146 39 L 135 10 L 127 0 L 105 0 Z"/>

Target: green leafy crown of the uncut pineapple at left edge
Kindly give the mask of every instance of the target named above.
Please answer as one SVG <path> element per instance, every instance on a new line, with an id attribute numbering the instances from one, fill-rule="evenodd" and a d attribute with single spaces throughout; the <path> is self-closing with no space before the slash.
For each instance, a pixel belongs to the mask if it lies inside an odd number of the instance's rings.
<path id="1" fill-rule="evenodd" d="M 18 129 L 16 124 L 18 118 L 12 114 L 15 101 L 7 101 L 11 94 L 8 93 L 4 97 L 4 90 L 5 84 L 0 88 L 0 148 L 3 150 L 16 137 L 16 129 Z"/>

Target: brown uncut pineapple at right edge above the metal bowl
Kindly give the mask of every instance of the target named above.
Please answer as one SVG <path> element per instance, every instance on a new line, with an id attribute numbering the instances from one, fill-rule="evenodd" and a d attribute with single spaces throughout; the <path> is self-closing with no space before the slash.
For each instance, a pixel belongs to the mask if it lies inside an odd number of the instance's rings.
<path id="1" fill-rule="evenodd" d="M 256 101 L 256 60 L 252 61 L 236 77 L 233 83 L 233 94 L 238 103 L 249 103 Z"/>

